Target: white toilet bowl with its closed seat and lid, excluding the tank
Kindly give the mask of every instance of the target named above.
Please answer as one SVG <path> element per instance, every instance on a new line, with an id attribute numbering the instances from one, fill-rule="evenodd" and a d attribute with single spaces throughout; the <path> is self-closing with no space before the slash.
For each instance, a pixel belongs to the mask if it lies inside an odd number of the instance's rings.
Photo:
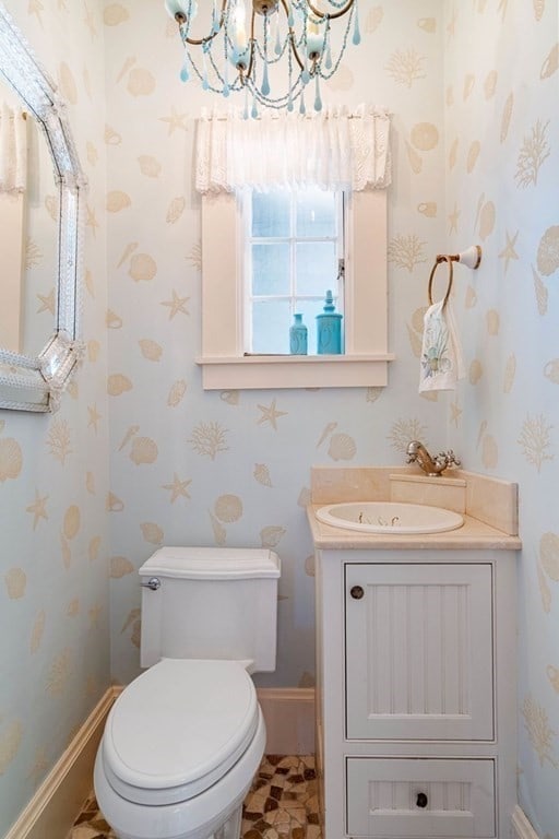
<path id="1" fill-rule="evenodd" d="M 237 839 L 265 746 L 241 663 L 163 659 L 112 707 L 95 761 L 119 839 Z"/>

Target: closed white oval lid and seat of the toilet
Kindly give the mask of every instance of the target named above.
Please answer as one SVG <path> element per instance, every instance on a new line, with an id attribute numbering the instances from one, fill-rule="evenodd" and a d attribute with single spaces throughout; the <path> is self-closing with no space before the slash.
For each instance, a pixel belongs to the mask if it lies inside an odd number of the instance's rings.
<path id="1" fill-rule="evenodd" d="M 257 725 L 254 685 L 240 663 L 163 659 L 110 711 L 107 779 L 129 801 L 187 801 L 237 763 Z"/>

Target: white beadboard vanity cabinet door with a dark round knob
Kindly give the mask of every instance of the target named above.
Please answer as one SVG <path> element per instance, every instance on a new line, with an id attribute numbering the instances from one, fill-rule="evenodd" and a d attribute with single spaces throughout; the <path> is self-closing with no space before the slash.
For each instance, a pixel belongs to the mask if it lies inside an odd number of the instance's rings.
<path id="1" fill-rule="evenodd" d="M 347 738 L 492 740 L 491 571 L 345 566 Z"/>

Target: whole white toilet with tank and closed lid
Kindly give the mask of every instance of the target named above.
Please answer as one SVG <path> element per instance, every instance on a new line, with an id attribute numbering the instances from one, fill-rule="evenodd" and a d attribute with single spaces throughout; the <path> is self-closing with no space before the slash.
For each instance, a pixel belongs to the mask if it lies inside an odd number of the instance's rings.
<path id="1" fill-rule="evenodd" d="M 141 664 L 97 751 L 119 839 L 238 839 L 265 725 L 252 673 L 275 670 L 280 558 L 162 547 L 140 568 Z"/>

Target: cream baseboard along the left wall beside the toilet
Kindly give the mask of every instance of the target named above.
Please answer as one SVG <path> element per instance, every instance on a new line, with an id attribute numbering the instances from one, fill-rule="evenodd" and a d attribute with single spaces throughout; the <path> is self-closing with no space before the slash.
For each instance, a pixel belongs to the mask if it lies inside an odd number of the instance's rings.
<path id="1" fill-rule="evenodd" d="M 117 690 L 109 688 L 4 839 L 63 839 L 92 790 L 93 764 Z"/>

